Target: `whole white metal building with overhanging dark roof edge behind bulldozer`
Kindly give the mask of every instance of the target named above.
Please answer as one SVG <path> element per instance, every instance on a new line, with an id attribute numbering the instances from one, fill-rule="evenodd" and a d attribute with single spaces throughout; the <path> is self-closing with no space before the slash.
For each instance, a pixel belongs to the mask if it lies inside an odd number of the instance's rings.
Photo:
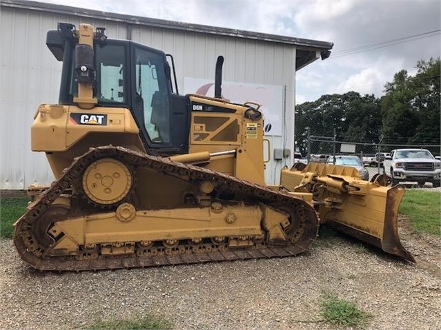
<path id="1" fill-rule="evenodd" d="M 46 32 L 55 30 L 57 22 L 91 23 L 106 28 L 110 38 L 131 39 L 173 54 L 180 94 L 209 94 L 217 56 L 224 56 L 224 96 L 264 104 L 266 138 L 271 142 L 271 162 L 265 173 L 268 184 L 277 183 L 281 167 L 293 164 L 295 72 L 316 59 L 326 59 L 333 46 L 35 1 L 0 0 L 0 189 L 48 185 L 53 179 L 46 156 L 30 151 L 30 125 L 40 103 L 58 101 L 61 63 L 46 47 Z M 290 152 L 275 160 L 274 149 Z"/>

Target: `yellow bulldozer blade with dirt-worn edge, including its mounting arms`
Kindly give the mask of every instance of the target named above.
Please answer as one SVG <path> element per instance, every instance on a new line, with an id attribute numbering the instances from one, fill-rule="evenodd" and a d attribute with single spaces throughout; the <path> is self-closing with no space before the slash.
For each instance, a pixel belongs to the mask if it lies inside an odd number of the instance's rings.
<path id="1" fill-rule="evenodd" d="M 320 223 L 415 262 L 398 236 L 398 209 L 404 187 L 387 187 L 387 176 L 362 181 L 356 169 L 310 163 L 306 167 L 283 169 L 282 187 L 291 192 L 313 193 Z"/>

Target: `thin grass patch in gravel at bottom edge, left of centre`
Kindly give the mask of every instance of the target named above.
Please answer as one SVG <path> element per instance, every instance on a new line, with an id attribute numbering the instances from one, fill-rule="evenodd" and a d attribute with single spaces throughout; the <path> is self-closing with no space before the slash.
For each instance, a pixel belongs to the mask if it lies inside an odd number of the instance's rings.
<path id="1" fill-rule="evenodd" d="M 157 316 L 144 316 L 136 320 L 98 320 L 88 330 L 166 330 L 173 329 L 173 323 Z"/>

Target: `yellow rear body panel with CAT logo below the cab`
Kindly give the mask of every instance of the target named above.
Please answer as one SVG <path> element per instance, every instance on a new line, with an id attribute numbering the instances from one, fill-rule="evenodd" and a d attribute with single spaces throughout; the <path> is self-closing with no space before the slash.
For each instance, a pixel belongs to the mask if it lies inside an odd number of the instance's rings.
<path id="1" fill-rule="evenodd" d="M 46 152 L 55 178 L 89 147 L 115 145 L 145 152 L 133 116 L 124 108 L 41 105 L 31 139 L 33 151 Z"/>

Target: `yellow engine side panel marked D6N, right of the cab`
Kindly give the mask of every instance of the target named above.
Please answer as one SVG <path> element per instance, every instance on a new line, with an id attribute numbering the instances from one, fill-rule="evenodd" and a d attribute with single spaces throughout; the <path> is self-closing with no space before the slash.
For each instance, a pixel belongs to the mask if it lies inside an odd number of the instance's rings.
<path id="1" fill-rule="evenodd" d="M 210 158 L 207 167 L 237 178 L 265 184 L 262 116 L 246 118 L 247 107 L 222 100 L 190 97 L 193 111 L 189 152 L 226 152 L 235 156 Z"/>

